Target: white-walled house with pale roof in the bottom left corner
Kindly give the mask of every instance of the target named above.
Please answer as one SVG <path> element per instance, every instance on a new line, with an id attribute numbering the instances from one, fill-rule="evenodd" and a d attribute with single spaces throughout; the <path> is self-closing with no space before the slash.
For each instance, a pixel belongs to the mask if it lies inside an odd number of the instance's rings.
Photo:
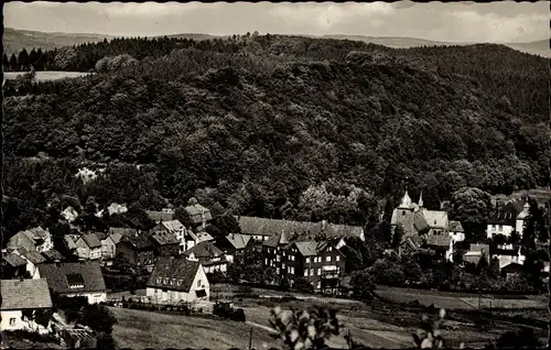
<path id="1" fill-rule="evenodd" d="M 51 331 L 52 298 L 44 278 L 2 280 L 1 327 L 4 330 Z"/>

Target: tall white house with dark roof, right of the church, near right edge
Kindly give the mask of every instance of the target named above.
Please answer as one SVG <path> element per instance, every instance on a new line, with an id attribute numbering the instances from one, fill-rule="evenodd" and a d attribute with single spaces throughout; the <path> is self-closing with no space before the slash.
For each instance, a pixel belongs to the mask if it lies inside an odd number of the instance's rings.
<path id="1" fill-rule="evenodd" d="M 491 239 L 498 234 L 509 238 L 514 231 L 522 237 L 525 219 L 530 208 L 525 199 L 508 201 L 505 206 L 496 205 L 496 211 L 490 217 L 486 228 L 487 238 Z"/>

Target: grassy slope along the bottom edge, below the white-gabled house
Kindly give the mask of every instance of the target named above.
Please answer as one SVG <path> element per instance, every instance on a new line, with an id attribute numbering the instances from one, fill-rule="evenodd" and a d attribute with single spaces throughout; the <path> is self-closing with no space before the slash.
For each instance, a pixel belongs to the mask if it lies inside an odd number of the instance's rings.
<path id="1" fill-rule="evenodd" d="M 117 318 L 114 338 L 119 348 L 132 349 L 247 349 L 250 325 L 192 316 L 174 316 L 142 310 L 110 308 Z M 252 347 L 274 344 L 269 332 L 253 329 Z"/>

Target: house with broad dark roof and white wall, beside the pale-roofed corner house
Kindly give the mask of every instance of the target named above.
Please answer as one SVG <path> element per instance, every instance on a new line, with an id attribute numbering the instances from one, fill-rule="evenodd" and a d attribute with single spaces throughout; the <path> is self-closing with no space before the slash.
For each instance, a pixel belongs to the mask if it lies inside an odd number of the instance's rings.
<path id="1" fill-rule="evenodd" d="M 85 296 L 89 304 L 107 299 L 107 288 L 98 262 L 48 263 L 39 265 L 39 270 L 53 293 L 68 297 Z"/>

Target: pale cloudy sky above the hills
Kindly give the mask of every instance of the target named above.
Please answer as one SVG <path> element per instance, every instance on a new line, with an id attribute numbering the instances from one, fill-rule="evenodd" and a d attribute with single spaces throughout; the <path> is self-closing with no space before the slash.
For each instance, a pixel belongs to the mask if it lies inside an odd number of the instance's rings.
<path id="1" fill-rule="evenodd" d="M 4 26 L 41 32 L 150 36 L 182 33 L 409 36 L 517 43 L 550 37 L 547 1 L 489 3 L 60 3 L 9 2 Z"/>

